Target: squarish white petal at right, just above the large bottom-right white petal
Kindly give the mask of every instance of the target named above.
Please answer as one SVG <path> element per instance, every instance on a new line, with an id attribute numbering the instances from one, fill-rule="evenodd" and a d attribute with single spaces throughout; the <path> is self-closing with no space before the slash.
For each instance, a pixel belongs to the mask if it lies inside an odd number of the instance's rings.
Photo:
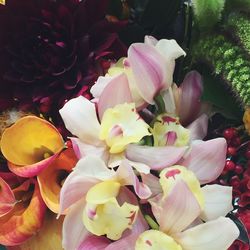
<path id="1" fill-rule="evenodd" d="M 205 197 L 205 207 L 200 215 L 204 221 L 226 216 L 233 210 L 232 187 L 221 185 L 206 185 L 202 188 Z"/>

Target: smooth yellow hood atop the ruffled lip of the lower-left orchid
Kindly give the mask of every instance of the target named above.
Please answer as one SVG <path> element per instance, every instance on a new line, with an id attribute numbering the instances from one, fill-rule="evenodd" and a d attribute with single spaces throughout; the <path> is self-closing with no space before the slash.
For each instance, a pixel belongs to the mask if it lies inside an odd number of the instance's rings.
<path id="1" fill-rule="evenodd" d="M 86 202 L 91 204 L 104 204 L 119 193 L 121 184 L 116 181 L 104 181 L 89 189 Z"/>

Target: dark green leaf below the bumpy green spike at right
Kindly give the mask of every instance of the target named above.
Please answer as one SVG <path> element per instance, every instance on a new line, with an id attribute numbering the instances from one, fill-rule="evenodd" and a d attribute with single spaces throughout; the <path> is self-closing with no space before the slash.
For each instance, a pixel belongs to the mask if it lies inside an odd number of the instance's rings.
<path id="1" fill-rule="evenodd" d="M 206 70 L 203 70 L 202 76 L 204 86 L 202 101 L 213 104 L 215 111 L 226 118 L 241 120 L 243 111 L 225 83 Z"/>

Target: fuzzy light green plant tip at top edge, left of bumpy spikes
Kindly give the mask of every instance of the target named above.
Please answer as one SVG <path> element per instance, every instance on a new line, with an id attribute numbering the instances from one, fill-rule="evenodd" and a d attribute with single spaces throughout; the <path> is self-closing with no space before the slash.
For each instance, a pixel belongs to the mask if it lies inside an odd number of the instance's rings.
<path id="1" fill-rule="evenodd" d="M 201 29 L 211 28 L 221 19 L 225 0 L 193 0 L 194 15 Z"/>

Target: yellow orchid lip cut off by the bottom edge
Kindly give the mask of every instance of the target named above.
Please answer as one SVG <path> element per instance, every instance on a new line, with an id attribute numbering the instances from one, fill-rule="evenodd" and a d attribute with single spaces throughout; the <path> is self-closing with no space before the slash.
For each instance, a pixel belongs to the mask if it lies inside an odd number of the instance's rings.
<path id="1" fill-rule="evenodd" d="M 135 250 L 147 249 L 182 250 L 182 247 L 167 234 L 157 230 L 148 230 L 139 236 L 135 244 Z"/>

